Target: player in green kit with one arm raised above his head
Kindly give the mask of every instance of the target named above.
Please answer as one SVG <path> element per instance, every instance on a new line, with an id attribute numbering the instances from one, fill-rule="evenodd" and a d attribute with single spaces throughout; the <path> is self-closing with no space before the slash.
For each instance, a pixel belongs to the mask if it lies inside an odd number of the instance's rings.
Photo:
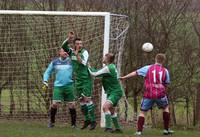
<path id="1" fill-rule="evenodd" d="M 81 129 L 85 129 L 90 125 L 90 130 L 93 130 L 96 127 L 96 120 L 94 114 L 95 106 L 91 99 L 92 78 L 87 67 L 89 54 L 80 38 L 73 39 L 74 33 L 69 32 L 67 39 L 62 44 L 62 48 L 72 59 L 75 90 L 80 99 L 81 111 L 84 115 L 84 125 Z M 69 47 L 72 42 L 74 42 L 74 50 Z"/>

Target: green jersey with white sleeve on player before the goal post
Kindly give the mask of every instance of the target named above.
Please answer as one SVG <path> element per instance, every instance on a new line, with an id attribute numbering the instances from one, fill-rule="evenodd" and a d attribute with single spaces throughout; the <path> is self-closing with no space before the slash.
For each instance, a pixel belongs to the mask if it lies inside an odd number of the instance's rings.
<path id="1" fill-rule="evenodd" d="M 89 71 L 92 76 L 102 77 L 102 84 L 106 94 L 123 94 L 114 64 L 109 64 L 96 72 L 92 69 L 89 69 Z"/>

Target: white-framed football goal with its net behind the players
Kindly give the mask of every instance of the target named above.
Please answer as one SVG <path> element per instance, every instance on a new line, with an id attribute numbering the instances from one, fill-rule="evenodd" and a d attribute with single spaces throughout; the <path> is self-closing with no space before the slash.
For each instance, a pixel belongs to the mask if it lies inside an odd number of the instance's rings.
<path id="1" fill-rule="evenodd" d="M 69 31 L 83 40 L 92 66 L 102 67 L 103 54 L 113 52 L 120 71 L 128 26 L 126 16 L 107 12 L 0 11 L 0 117 L 47 118 L 54 77 L 43 93 L 43 73 Z M 94 81 L 93 92 L 100 120 L 99 80 Z M 57 121 L 68 120 L 67 111 L 63 104 Z"/>

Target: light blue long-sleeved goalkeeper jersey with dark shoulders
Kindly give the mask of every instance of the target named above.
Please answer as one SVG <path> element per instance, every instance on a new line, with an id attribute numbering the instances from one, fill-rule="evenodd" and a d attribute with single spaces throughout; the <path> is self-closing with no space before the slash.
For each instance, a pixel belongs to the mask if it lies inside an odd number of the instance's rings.
<path id="1" fill-rule="evenodd" d="M 65 60 L 61 58 L 54 59 L 46 69 L 43 75 L 43 81 L 48 82 L 49 77 L 52 73 L 55 73 L 54 86 L 60 87 L 68 84 L 72 84 L 72 62 L 68 57 Z"/>

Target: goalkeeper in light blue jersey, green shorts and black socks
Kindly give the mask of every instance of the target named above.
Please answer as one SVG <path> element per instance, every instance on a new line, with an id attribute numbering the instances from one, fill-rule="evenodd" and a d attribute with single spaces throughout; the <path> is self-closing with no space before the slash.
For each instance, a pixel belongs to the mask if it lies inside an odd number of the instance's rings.
<path id="1" fill-rule="evenodd" d="M 50 108 L 50 121 L 48 127 L 52 128 L 55 125 L 55 115 L 59 104 L 62 101 L 68 102 L 69 112 L 71 115 L 71 126 L 76 127 L 76 109 L 75 97 L 72 80 L 72 62 L 68 54 L 61 48 L 59 58 L 54 59 L 46 69 L 43 76 L 43 90 L 48 87 L 48 79 L 55 72 L 55 81 L 53 89 L 53 103 Z"/>

